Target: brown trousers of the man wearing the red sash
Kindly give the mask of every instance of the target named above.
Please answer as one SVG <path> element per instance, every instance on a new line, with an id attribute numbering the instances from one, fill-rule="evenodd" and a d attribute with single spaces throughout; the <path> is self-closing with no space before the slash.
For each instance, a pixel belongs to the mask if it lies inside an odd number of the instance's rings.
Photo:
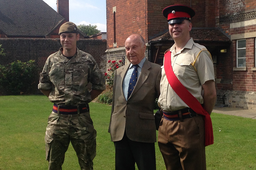
<path id="1" fill-rule="evenodd" d="M 205 130 L 201 115 L 183 121 L 162 118 L 158 146 L 167 170 L 206 170 Z"/>

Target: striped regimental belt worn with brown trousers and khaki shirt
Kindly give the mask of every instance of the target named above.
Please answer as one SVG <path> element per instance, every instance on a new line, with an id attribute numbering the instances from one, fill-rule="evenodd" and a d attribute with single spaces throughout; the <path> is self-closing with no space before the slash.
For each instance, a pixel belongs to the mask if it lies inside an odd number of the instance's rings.
<path id="1" fill-rule="evenodd" d="M 170 121 L 181 120 L 181 117 L 179 116 L 179 111 L 181 112 L 182 119 L 196 116 L 196 113 L 191 108 L 184 108 L 184 109 L 173 111 L 173 112 L 163 111 L 163 116 L 166 120 L 170 120 Z"/>

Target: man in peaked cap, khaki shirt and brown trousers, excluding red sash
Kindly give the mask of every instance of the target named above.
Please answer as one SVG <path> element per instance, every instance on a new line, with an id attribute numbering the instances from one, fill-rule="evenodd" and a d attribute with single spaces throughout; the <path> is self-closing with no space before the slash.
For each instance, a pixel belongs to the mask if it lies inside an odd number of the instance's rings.
<path id="1" fill-rule="evenodd" d="M 163 10 L 163 15 L 167 18 L 169 32 L 175 42 L 169 49 L 173 72 L 210 114 L 216 100 L 213 61 L 207 49 L 190 38 L 190 20 L 195 12 L 188 6 L 172 5 Z M 158 145 L 166 169 L 205 170 L 203 116 L 189 108 L 171 88 L 164 67 L 165 65 L 162 66 L 161 95 L 158 100 L 164 115 L 159 127 Z M 185 113 L 190 114 L 185 116 Z M 178 118 L 171 118 L 175 114 Z"/>

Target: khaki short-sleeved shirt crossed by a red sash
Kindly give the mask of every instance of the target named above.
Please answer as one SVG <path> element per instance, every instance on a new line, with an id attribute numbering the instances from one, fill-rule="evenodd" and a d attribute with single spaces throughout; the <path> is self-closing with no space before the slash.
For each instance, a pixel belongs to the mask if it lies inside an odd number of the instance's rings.
<path id="1" fill-rule="evenodd" d="M 213 60 L 207 50 L 203 50 L 195 62 L 197 71 L 195 71 L 194 67 L 191 65 L 202 49 L 206 49 L 205 46 L 194 43 L 192 38 L 178 53 L 176 53 L 175 44 L 170 48 L 171 65 L 174 74 L 201 104 L 203 103 L 202 84 L 208 80 L 214 80 Z M 162 78 L 160 82 L 161 94 L 158 99 L 159 107 L 164 111 L 176 111 L 188 107 L 171 88 L 166 78 L 164 65 L 161 68 Z"/>

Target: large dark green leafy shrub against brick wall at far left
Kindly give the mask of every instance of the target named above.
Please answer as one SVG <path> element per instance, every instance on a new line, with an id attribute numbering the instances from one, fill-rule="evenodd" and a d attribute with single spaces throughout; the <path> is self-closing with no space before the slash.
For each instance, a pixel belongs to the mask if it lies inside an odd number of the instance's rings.
<path id="1" fill-rule="evenodd" d="M 34 94 L 38 83 L 38 70 L 35 61 L 14 61 L 0 65 L 0 94 Z"/>

